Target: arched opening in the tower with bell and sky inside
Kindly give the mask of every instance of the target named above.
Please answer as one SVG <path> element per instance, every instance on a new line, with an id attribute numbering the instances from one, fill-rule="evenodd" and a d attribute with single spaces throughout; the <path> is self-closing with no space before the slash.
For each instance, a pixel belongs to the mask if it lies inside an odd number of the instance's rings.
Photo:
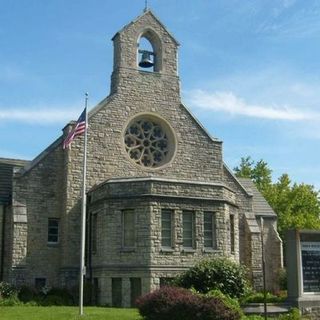
<path id="1" fill-rule="evenodd" d="M 139 70 L 159 72 L 161 69 L 161 45 L 153 31 L 145 31 L 138 41 L 137 66 Z"/>

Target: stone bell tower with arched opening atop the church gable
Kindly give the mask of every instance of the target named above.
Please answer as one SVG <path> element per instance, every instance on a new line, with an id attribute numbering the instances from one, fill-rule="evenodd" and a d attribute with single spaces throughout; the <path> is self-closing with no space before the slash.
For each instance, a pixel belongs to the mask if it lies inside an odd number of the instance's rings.
<path id="1" fill-rule="evenodd" d="M 114 44 L 111 94 L 151 89 L 176 89 L 180 98 L 177 54 L 179 43 L 149 10 L 112 38 Z M 178 98 L 178 97 L 177 97 Z"/>

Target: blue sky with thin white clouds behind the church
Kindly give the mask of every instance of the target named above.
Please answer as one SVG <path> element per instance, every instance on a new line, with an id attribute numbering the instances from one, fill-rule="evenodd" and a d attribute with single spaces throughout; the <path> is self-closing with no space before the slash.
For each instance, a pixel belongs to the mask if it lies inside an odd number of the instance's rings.
<path id="1" fill-rule="evenodd" d="M 32 159 L 109 94 L 112 36 L 144 0 L 0 0 L 0 157 Z M 180 42 L 182 99 L 230 168 L 320 189 L 320 1 L 149 0 Z"/>

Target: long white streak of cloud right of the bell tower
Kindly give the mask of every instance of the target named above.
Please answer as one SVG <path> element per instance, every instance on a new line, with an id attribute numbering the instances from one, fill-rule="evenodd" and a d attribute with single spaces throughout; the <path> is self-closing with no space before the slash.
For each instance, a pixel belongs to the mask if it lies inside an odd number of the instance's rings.
<path id="1" fill-rule="evenodd" d="M 312 111 L 301 112 L 289 106 L 266 106 L 249 104 L 233 92 L 192 90 L 187 94 L 188 103 L 196 108 L 226 112 L 231 115 L 263 118 L 270 120 L 318 120 L 320 114 Z"/>

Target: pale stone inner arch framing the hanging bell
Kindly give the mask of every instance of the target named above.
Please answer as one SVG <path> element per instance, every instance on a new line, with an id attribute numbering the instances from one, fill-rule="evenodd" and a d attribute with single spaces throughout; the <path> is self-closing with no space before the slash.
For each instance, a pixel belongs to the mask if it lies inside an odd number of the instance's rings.
<path id="1" fill-rule="evenodd" d="M 141 40 L 143 38 L 146 39 L 150 43 L 152 50 L 153 50 L 154 66 L 153 66 L 152 71 L 153 72 L 161 72 L 161 70 L 162 70 L 162 42 L 161 42 L 161 38 L 159 37 L 159 35 L 154 30 L 152 30 L 150 28 L 143 30 L 138 37 L 137 65 L 139 64 L 139 59 L 140 59 L 139 49 L 141 49 L 141 48 L 139 48 L 139 46 L 140 46 Z"/>

